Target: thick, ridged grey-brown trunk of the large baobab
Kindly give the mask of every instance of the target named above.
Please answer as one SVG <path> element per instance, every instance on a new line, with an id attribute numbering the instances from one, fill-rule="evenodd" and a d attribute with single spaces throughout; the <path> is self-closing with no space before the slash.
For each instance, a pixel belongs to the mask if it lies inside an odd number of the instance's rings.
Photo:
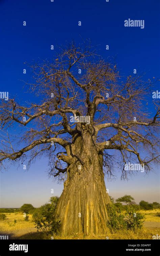
<path id="1" fill-rule="evenodd" d="M 76 159 L 68 168 L 56 210 L 60 234 L 105 235 L 108 231 L 106 204 L 110 199 L 104 182 L 103 157 L 88 136 L 86 140 L 83 138 L 83 143 L 75 143 L 75 151 Z"/>

